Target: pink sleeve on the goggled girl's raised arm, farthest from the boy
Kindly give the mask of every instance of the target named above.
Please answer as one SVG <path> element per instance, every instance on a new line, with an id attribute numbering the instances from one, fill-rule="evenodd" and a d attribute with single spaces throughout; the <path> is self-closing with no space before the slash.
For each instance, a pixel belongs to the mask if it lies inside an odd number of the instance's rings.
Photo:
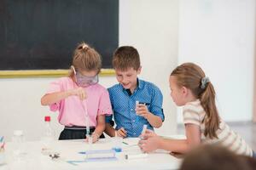
<path id="1" fill-rule="evenodd" d="M 50 82 L 49 88 L 48 88 L 46 94 L 61 92 L 61 84 L 62 84 L 61 79 L 58 79 L 55 82 Z M 49 105 L 49 111 L 58 111 L 59 107 L 60 107 L 60 103 L 61 103 L 61 101 L 56 102 L 52 105 Z"/>

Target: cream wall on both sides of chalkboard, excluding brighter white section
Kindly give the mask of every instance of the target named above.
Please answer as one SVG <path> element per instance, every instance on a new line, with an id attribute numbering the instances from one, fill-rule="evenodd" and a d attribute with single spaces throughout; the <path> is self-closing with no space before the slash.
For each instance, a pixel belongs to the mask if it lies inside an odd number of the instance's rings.
<path id="1" fill-rule="evenodd" d="M 168 76 L 177 65 L 177 0 L 120 0 L 119 45 L 133 45 L 143 65 L 141 77 L 157 84 L 164 94 L 166 122 L 161 134 L 176 132 L 176 109 L 169 97 Z M 55 78 L 0 79 L 0 135 L 10 139 L 15 129 L 22 129 L 27 140 L 39 139 L 44 116 L 51 115 L 56 134 L 61 125 L 56 113 L 40 105 L 49 82 Z M 115 77 L 100 77 L 106 88 Z"/>

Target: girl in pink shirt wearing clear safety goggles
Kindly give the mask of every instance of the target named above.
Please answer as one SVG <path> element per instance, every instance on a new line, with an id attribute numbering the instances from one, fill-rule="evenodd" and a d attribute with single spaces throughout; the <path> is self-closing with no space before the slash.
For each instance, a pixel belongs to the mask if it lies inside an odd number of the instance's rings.
<path id="1" fill-rule="evenodd" d="M 50 111 L 59 111 L 58 120 L 64 125 L 59 139 L 85 139 L 90 126 L 93 142 L 104 138 L 105 115 L 112 109 L 108 90 L 98 84 L 102 59 L 94 48 L 82 42 L 73 54 L 68 77 L 51 82 L 41 104 Z"/>

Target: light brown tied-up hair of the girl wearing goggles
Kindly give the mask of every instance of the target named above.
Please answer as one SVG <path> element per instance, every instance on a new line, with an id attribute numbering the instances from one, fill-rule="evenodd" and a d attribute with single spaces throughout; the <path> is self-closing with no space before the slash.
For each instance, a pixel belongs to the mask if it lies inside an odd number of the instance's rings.
<path id="1" fill-rule="evenodd" d="M 102 57 L 94 48 L 90 48 L 85 42 L 79 43 L 73 52 L 73 62 L 75 70 L 78 71 L 101 71 Z M 69 76 L 73 77 L 73 69 Z"/>

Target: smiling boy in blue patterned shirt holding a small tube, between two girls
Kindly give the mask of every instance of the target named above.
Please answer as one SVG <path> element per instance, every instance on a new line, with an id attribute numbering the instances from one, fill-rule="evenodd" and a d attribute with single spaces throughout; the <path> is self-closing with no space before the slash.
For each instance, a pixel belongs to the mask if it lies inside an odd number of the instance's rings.
<path id="1" fill-rule="evenodd" d="M 151 130 L 161 127 L 165 119 L 163 95 L 153 83 L 137 77 L 142 70 L 137 49 L 131 46 L 117 48 L 112 64 L 119 84 L 108 88 L 113 116 L 106 116 L 105 133 L 111 137 L 116 134 L 123 138 L 138 137 L 144 124 Z"/>

